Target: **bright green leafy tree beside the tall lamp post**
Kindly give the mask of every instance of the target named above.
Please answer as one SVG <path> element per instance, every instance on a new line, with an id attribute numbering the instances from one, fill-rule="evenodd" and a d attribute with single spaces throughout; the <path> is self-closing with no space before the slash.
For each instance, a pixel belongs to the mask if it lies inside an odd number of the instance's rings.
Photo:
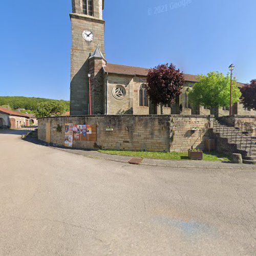
<path id="1" fill-rule="evenodd" d="M 199 82 L 188 93 L 188 99 L 194 106 L 205 106 L 218 109 L 229 106 L 230 75 L 219 72 L 210 72 L 207 75 L 198 75 Z M 239 102 L 241 92 L 237 80 L 232 80 L 232 104 Z"/>

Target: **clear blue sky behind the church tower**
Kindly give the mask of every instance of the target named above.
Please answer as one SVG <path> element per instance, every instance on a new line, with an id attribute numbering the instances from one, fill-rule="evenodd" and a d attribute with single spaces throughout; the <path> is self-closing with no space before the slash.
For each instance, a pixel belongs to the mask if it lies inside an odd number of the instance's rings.
<path id="1" fill-rule="evenodd" d="M 69 99 L 71 0 L 2 1 L 0 95 Z M 255 0 L 105 0 L 110 63 L 256 78 Z"/>

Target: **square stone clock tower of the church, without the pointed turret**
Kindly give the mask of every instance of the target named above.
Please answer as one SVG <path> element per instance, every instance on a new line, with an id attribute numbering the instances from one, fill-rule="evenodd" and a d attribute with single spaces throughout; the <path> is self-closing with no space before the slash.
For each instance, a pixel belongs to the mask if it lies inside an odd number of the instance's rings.
<path id="1" fill-rule="evenodd" d="M 102 18 L 103 6 L 103 0 L 72 0 L 72 13 L 70 14 L 72 28 L 70 82 L 71 115 L 88 114 L 89 57 L 97 46 L 104 55 L 105 22 Z M 84 33 L 84 31 L 86 31 L 86 33 Z"/>

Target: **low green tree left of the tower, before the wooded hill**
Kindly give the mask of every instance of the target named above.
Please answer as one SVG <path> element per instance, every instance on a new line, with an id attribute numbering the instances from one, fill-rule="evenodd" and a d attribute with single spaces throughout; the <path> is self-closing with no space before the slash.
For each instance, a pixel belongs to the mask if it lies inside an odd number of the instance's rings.
<path id="1" fill-rule="evenodd" d="M 60 116 L 66 112 L 65 103 L 62 101 L 41 102 L 36 108 L 36 117 Z"/>

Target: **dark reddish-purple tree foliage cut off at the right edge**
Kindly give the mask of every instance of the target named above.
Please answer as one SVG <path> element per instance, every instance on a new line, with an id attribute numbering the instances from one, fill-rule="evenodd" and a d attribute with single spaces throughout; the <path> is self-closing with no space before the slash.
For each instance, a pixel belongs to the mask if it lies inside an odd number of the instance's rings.
<path id="1" fill-rule="evenodd" d="M 245 108 L 256 110 L 256 79 L 241 88 L 242 103 Z"/>

